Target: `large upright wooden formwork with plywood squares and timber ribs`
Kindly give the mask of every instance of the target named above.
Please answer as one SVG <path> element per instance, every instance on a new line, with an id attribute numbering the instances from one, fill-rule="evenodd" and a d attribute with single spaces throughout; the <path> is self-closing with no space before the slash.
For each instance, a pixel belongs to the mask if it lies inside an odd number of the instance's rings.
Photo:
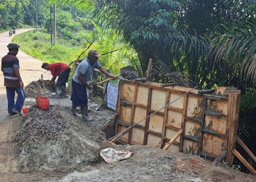
<path id="1" fill-rule="evenodd" d="M 130 127 L 119 141 L 162 148 L 170 141 L 167 150 L 210 161 L 227 150 L 227 160 L 233 162 L 240 91 L 219 87 L 199 94 L 170 84 L 130 81 L 119 82 L 119 88 L 115 134 Z"/>

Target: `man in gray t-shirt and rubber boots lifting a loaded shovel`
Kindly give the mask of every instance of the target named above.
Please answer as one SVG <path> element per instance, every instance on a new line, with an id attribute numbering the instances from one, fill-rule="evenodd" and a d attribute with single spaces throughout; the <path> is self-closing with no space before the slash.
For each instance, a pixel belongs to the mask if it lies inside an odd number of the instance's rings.
<path id="1" fill-rule="evenodd" d="M 88 116 L 88 94 L 87 89 L 92 90 L 89 84 L 93 69 L 97 68 L 103 74 L 110 78 L 116 78 L 115 75 L 108 73 L 98 61 L 101 56 L 96 50 L 92 49 L 88 52 L 87 57 L 79 64 L 74 76 L 72 77 L 72 94 L 70 100 L 72 101 L 71 114 L 76 116 L 76 107 L 81 107 L 82 119 L 81 121 L 91 121 Z"/>

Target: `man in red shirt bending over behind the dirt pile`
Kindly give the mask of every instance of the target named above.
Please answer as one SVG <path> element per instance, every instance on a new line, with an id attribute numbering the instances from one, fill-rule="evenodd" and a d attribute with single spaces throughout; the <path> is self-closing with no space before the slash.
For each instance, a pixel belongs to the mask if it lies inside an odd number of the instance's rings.
<path id="1" fill-rule="evenodd" d="M 52 63 L 52 64 L 43 63 L 41 67 L 44 68 L 45 70 L 50 70 L 50 72 L 53 76 L 52 79 L 50 80 L 50 82 L 47 83 L 46 85 L 49 85 L 49 84 L 54 85 L 56 77 L 59 76 L 59 78 L 57 79 L 57 84 L 56 84 L 55 98 L 56 99 L 61 98 L 61 94 L 63 94 L 65 96 L 66 83 L 68 81 L 70 67 L 65 63 Z"/>

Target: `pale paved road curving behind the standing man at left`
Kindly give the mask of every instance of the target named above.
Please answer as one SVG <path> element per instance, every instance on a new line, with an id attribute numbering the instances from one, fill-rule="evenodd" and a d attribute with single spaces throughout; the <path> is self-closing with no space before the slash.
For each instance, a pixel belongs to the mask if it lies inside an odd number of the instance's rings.
<path id="1" fill-rule="evenodd" d="M 8 48 L 6 47 L 12 38 L 23 32 L 34 31 L 34 29 L 16 29 L 16 33 L 9 36 L 8 32 L 0 33 L 0 59 L 7 54 Z M 24 86 L 27 86 L 29 83 L 35 80 L 41 79 L 41 74 L 43 74 L 44 80 L 49 80 L 52 78 L 50 71 L 46 71 L 41 68 L 43 61 L 32 58 L 30 55 L 25 52 L 19 51 L 17 55 L 20 64 L 20 76 L 24 83 Z M 16 116 L 16 115 L 14 115 Z M 1 120 L 8 119 L 11 116 L 8 115 L 7 111 L 7 98 L 6 91 L 4 87 L 4 76 L 3 72 L 0 71 L 0 123 Z"/>

